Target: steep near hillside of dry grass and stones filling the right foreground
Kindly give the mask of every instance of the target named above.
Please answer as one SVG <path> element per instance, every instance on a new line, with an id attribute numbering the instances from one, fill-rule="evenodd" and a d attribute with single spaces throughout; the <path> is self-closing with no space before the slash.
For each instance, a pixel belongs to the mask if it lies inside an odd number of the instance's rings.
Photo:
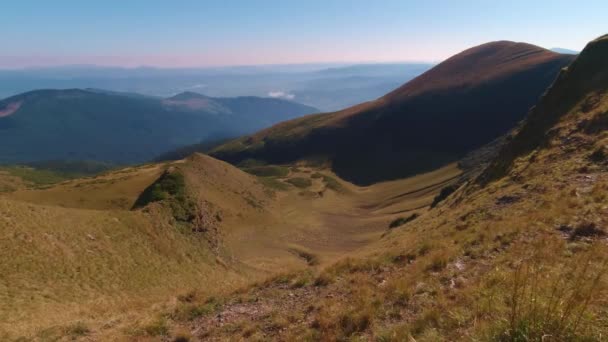
<path id="1" fill-rule="evenodd" d="M 480 183 L 321 273 L 247 288 L 219 316 L 176 329 L 209 340 L 601 340 L 607 59 L 608 37 L 592 42 Z"/>

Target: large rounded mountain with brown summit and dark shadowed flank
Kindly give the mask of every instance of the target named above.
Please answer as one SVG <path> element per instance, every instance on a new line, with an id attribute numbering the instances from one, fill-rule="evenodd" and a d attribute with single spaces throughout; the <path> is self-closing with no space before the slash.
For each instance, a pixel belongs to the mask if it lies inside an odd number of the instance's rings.
<path id="1" fill-rule="evenodd" d="M 480 45 L 378 100 L 283 122 L 212 155 L 232 163 L 322 159 L 357 184 L 429 171 L 513 128 L 574 58 L 523 43 Z"/>

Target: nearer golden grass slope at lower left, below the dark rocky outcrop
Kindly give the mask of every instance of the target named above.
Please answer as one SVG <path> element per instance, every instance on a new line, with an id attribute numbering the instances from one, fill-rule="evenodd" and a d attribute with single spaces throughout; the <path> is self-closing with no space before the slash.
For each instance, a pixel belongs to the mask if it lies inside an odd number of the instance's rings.
<path id="1" fill-rule="evenodd" d="M 5 199 L 0 212 L 0 331 L 121 322 L 126 318 L 117 313 L 141 309 L 167 293 L 238 281 L 216 270 L 204 241 L 177 232 L 162 217 Z"/>

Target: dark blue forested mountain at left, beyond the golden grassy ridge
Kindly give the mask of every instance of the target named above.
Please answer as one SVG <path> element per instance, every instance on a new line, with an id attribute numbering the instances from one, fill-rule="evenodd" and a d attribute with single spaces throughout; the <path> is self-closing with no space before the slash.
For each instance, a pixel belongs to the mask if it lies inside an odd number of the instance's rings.
<path id="1" fill-rule="evenodd" d="M 0 101 L 0 163 L 143 162 L 201 141 L 251 133 L 317 112 L 282 99 L 171 98 L 103 90 L 38 90 Z"/>

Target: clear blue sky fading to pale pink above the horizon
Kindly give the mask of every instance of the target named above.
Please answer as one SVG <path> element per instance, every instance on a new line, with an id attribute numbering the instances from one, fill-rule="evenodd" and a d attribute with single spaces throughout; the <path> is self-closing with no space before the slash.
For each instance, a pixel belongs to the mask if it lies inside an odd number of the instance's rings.
<path id="1" fill-rule="evenodd" d="M 495 40 L 581 50 L 608 1 L 0 1 L 0 68 L 437 62 Z"/>

